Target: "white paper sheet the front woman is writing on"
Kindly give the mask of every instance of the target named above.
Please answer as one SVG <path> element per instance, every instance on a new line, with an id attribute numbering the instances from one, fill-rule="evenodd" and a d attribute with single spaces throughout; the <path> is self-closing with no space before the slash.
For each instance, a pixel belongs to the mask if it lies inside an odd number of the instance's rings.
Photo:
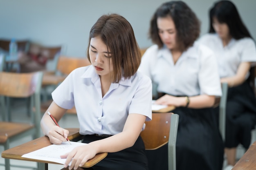
<path id="1" fill-rule="evenodd" d="M 86 145 L 85 143 L 81 143 L 81 142 L 70 141 L 70 143 L 62 142 L 62 144 L 60 145 L 53 144 L 45 148 L 41 148 L 33 152 L 29 152 L 25 155 L 22 155 L 22 157 L 44 160 L 44 161 L 51 161 L 51 162 L 61 163 L 64 165 L 66 159 L 62 159 L 61 155 L 65 155 L 66 153 L 72 151 L 72 149 L 77 146 Z M 69 165 L 71 165 L 71 162 Z"/>

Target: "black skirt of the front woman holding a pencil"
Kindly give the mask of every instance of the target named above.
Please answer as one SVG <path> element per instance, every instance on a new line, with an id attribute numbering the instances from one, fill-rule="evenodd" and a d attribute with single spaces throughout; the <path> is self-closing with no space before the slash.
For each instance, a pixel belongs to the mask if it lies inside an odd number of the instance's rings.
<path id="1" fill-rule="evenodd" d="M 83 143 L 103 139 L 95 135 L 85 135 Z M 119 152 L 108 153 L 107 157 L 85 170 L 148 170 L 145 146 L 139 136 L 135 144 Z"/>

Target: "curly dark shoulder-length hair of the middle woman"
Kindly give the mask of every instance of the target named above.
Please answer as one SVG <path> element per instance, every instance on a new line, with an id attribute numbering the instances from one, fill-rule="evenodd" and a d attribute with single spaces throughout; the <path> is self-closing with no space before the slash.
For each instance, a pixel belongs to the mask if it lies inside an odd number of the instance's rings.
<path id="1" fill-rule="evenodd" d="M 163 42 L 159 37 L 157 28 L 157 18 L 171 16 L 177 31 L 177 44 L 181 51 L 185 51 L 193 45 L 200 35 L 200 21 L 195 13 L 182 1 L 170 1 L 163 3 L 155 12 L 150 21 L 149 38 L 163 47 Z"/>

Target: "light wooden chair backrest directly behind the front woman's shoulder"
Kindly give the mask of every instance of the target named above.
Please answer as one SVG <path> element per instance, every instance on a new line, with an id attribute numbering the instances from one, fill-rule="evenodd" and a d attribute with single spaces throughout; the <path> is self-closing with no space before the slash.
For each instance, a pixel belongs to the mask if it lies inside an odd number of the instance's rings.
<path id="1" fill-rule="evenodd" d="M 60 56 L 58 58 L 57 71 L 63 75 L 68 75 L 75 68 L 91 65 L 87 58 Z"/>

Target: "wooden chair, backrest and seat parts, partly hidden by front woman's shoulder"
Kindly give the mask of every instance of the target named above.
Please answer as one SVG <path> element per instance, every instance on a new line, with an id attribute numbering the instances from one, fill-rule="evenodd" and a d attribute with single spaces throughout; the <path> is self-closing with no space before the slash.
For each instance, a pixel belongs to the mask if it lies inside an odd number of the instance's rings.
<path id="1" fill-rule="evenodd" d="M 87 58 L 84 58 L 84 57 L 82 58 L 82 57 L 60 56 L 58 58 L 57 70 L 56 70 L 56 72 L 54 74 L 56 76 L 61 75 L 61 76 L 63 76 L 65 78 L 75 68 L 79 68 L 79 67 L 83 67 L 83 66 L 88 66 L 90 64 L 91 63 L 89 62 L 89 60 Z M 53 76 L 54 77 L 54 75 L 49 75 L 49 74 L 53 74 L 53 73 L 45 73 L 45 76 Z M 56 85 L 57 84 L 54 84 L 55 87 L 56 87 Z M 47 108 L 50 106 L 51 103 L 52 103 L 52 99 L 51 100 L 45 100 L 45 102 L 43 102 L 41 104 L 41 112 L 45 113 L 45 111 L 47 110 Z M 76 114 L 76 108 L 73 107 L 72 109 L 67 110 L 66 113 Z"/>

